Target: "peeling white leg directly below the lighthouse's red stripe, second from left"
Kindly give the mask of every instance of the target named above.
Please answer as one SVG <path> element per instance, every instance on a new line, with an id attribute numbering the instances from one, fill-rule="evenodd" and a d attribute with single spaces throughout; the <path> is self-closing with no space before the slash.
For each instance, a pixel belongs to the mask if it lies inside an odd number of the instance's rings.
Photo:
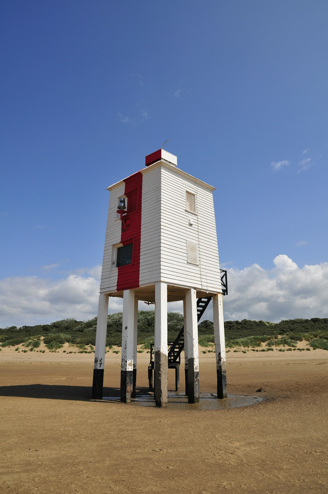
<path id="1" fill-rule="evenodd" d="M 121 401 L 131 400 L 133 387 L 134 290 L 123 291 Z"/>

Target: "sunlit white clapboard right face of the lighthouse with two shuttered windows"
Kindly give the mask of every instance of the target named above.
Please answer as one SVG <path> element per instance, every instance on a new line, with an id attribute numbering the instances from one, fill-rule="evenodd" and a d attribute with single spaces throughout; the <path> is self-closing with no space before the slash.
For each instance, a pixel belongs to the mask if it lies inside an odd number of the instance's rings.
<path id="1" fill-rule="evenodd" d="M 196 195 L 197 214 L 185 210 L 186 190 Z M 161 167 L 161 192 L 161 281 L 220 290 L 212 192 L 166 167 Z M 198 245 L 198 265 L 187 262 L 187 241 Z"/>

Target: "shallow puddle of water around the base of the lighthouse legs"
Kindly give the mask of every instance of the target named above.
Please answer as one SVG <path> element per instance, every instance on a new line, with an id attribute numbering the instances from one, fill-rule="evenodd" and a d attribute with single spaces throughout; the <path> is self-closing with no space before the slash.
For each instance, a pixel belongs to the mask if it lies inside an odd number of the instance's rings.
<path id="1" fill-rule="evenodd" d="M 117 396 L 109 396 L 103 400 L 121 403 Z M 263 400 L 258 396 L 228 395 L 228 398 L 218 400 L 212 393 L 200 393 L 199 403 L 190 404 L 184 394 L 168 393 L 167 410 L 228 410 L 236 407 L 247 407 Z M 155 407 L 154 394 L 137 395 L 128 405 Z"/>

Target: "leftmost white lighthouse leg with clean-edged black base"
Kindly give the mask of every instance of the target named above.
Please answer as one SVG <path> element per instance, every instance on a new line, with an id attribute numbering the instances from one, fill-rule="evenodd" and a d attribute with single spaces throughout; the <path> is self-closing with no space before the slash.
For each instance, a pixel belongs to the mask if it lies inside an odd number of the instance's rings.
<path id="1" fill-rule="evenodd" d="M 108 316 L 108 299 L 105 293 L 99 295 L 96 346 L 94 350 L 92 399 L 101 400 L 104 382 L 104 363 L 106 351 L 106 333 Z"/>

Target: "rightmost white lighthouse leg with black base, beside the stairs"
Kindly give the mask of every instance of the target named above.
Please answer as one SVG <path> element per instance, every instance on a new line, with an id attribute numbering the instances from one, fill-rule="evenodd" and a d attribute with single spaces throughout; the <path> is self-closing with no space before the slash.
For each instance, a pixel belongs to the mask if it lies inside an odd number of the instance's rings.
<path id="1" fill-rule="evenodd" d="M 226 357 L 222 293 L 213 295 L 214 345 L 216 357 L 217 397 L 227 398 Z"/>

